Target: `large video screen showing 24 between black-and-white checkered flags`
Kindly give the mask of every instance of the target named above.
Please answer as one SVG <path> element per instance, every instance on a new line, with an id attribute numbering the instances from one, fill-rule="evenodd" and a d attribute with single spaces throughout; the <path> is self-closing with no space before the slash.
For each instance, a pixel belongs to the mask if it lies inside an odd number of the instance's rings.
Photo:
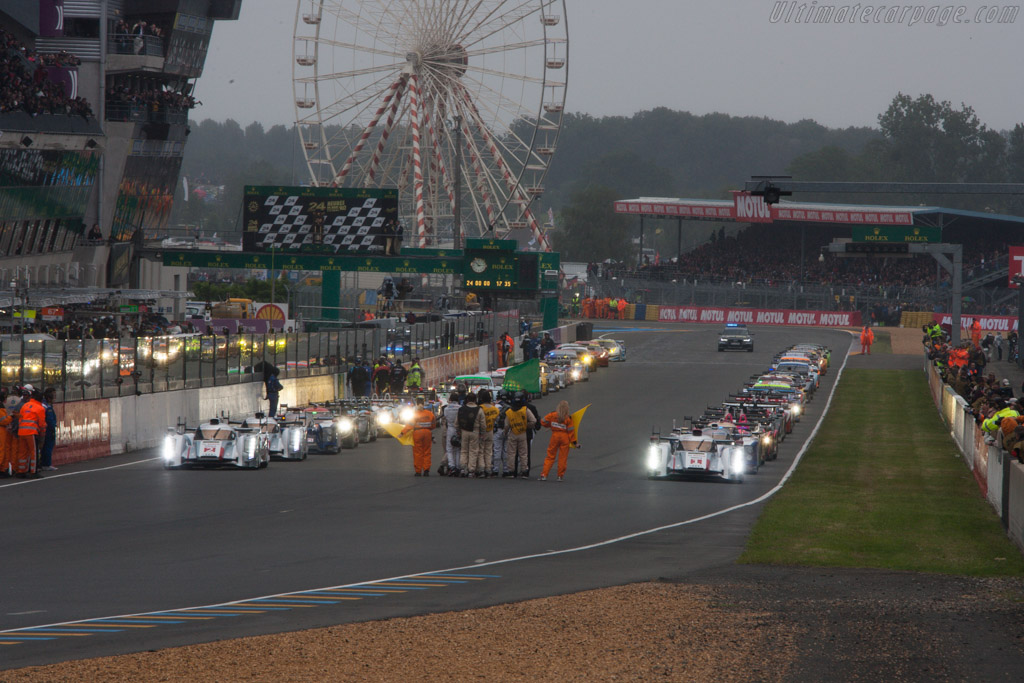
<path id="1" fill-rule="evenodd" d="M 246 251 L 383 254 L 397 189 L 246 185 Z"/>

